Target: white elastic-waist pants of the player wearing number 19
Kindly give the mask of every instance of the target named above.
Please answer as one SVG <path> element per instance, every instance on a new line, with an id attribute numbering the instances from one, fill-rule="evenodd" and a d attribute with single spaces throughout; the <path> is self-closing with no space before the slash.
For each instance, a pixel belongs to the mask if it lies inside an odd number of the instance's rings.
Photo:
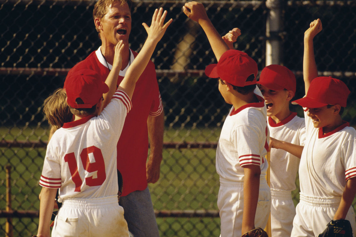
<path id="1" fill-rule="evenodd" d="M 129 237 L 124 209 L 117 195 L 92 199 L 68 198 L 54 220 L 52 237 Z"/>

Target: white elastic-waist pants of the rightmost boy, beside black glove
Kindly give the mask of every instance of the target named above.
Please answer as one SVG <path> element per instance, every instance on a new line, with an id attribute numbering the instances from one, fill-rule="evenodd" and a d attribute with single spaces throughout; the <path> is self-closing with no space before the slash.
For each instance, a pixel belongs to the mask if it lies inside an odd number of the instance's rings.
<path id="1" fill-rule="evenodd" d="M 323 233 L 326 225 L 334 218 L 340 200 L 341 197 L 312 197 L 300 194 L 291 237 L 315 237 Z M 356 222 L 352 206 L 345 219 L 350 221 L 355 237 Z"/>

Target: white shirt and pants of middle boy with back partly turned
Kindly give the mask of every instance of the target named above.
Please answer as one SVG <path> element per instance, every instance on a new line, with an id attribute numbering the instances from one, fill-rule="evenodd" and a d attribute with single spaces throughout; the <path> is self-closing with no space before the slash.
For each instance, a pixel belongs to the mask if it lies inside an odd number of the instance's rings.
<path id="1" fill-rule="evenodd" d="M 260 90 L 254 91 L 260 102 L 247 104 L 226 117 L 216 150 L 216 171 L 220 177 L 218 208 L 221 218 L 221 235 L 241 236 L 244 208 L 244 165 L 261 168 L 260 191 L 255 226 L 266 226 L 271 194 L 266 181 L 269 135 L 265 100 Z"/>

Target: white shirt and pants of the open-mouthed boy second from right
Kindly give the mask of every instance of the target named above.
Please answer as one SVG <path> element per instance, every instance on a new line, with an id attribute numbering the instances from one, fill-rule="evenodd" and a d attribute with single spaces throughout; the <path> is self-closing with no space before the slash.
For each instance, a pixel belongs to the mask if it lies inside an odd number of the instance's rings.
<path id="1" fill-rule="evenodd" d="M 268 117 L 269 135 L 278 140 L 304 146 L 304 118 L 292 112 L 283 121 L 276 123 Z M 300 159 L 282 149 L 271 150 L 271 230 L 273 237 L 290 236 L 293 228 L 295 207 L 291 192 L 295 187 Z"/>

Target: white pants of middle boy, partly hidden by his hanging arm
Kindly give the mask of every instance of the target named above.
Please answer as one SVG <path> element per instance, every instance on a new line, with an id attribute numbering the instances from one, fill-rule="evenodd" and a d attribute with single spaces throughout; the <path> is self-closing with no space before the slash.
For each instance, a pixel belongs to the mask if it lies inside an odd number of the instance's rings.
<path id="1" fill-rule="evenodd" d="M 221 237 L 241 237 L 244 211 L 244 183 L 220 179 L 218 194 Z M 265 177 L 260 179 L 260 191 L 255 216 L 255 227 L 265 228 L 271 210 L 271 191 Z"/>

